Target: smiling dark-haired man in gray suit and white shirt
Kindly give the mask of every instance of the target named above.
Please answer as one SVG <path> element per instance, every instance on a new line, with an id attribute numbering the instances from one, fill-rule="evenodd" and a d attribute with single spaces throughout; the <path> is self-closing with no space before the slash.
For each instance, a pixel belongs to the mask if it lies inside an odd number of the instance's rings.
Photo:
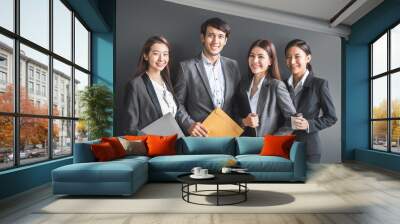
<path id="1" fill-rule="evenodd" d="M 201 122 L 217 107 L 237 119 L 233 96 L 241 80 L 239 66 L 235 60 L 220 55 L 229 34 L 226 22 L 208 19 L 201 25 L 201 54 L 180 63 L 174 85 L 176 97 L 183 105 L 178 119 L 191 136 L 207 136 Z"/>

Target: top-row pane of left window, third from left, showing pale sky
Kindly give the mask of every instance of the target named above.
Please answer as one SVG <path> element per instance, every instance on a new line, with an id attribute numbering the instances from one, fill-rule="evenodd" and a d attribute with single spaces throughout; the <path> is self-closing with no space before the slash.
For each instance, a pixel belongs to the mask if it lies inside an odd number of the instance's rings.
<path id="1" fill-rule="evenodd" d="M 53 51 L 71 60 L 72 12 L 60 1 L 53 1 Z"/>

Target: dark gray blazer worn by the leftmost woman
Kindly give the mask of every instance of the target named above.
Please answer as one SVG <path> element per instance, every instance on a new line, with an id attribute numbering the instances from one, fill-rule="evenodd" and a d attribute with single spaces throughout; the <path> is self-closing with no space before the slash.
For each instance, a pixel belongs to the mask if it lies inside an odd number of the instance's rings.
<path id="1" fill-rule="evenodd" d="M 127 84 L 124 102 L 125 134 L 136 135 L 139 130 L 162 117 L 157 94 L 150 78 L 146 74 L 135 77 Z M 175 102 L 177 103 L 176 99 Z M 177 104 L 177 108 L 175 117 L 179 116 L 178 114 L 180 113 L 181 107 L 179 104 Z"/>

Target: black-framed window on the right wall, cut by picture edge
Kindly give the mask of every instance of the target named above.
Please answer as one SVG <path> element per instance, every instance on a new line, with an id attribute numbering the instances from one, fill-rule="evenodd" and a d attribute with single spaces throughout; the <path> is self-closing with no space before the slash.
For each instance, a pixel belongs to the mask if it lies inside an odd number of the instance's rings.
<path id="1" fill-rule="evenodd" d="M 371 148 L 400 153 L 400 24 L 370 44 Z"/>

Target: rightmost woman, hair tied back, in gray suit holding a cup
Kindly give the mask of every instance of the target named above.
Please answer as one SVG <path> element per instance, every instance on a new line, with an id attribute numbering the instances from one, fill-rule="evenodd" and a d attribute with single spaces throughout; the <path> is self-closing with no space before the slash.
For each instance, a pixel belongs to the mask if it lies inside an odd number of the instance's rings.
<path id="1" fill-rule="evenodd" d="M 285 84 L 297 112 L 302 114 L 294 119 L 294 134 L 298 141 L 306 144 L 307 160 L 320 162 L 321 141 L 318 132 L 337 121 L 328 82 L 314 76 L 311 50 L 305 41 L 290 41 L 286 45 L 285 55 L 286 65 L 291 72 Z"/>

